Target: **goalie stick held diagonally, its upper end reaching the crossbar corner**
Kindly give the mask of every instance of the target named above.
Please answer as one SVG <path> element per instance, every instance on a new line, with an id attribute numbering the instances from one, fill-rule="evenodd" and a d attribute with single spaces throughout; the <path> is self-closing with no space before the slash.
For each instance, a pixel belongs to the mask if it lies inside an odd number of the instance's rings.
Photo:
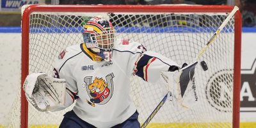
<path id="1" fill-rule="evenodd" d="M 207 42 L 207 44 L 205 44 L 205 46 L 202 48 L 202 50 L 198 53 L 198 56 L 196 58 L 196 61 L 192 64 L 195 65 L 198 63 L 198 61 L 200 60 L 200 58 L 202 57 L 202 55 L 204 54 L 204 52 L 206 51 L 206 49 L 209 47 L 209 45 L 212 44 L 212 42 L 216 39 L 216 36 L 218 36 L 220 34 L 220 32 L 222 31 L 222 29 L 227 25 L 228 21 L 232 18 L 232 16 L 237 12 L 237 10 L 239 10 L 239 8 L 237 6 L 234 6 L 234 9 L 229 13 L 228 17 L 222 22 L 221 26 L 216 30 L 216 32 L 214 33 L 214 35 L 212 35 L 212 37 L 210 38 L 210 40 Z M 191 65 L 189 65 L 191 66 Z M 205 67 L 203 67 L 205 70 Z M 195 68 L 194 68 L 195 70 Z M 161 74 L 163 79 L 166 81 L 166 76 L 163 76 L 163 74 Z M 181 88 L 180 88 L 181 89 Z M 166 102 L 166 99 L 168 99 L 168 97 L 172 96 L 172 93 L 169 91 L 168 93 L 166 93 L 166 95 L 164 96 L 164 98 L 161 100 L 161 102 L 156 106 L 156 108 L 154 109 L 154 111 L 152 111 L 152 113 L 148 116 L 147 120 L 145 120 L 145 122 L 141 125 L 141 128 L 146 127 L 149 122 L 152 120 L 152 118 L 154 118 L 154 116 L 156 115 L 156 113 L 159 111 L 159 109 L 163 106 L 163 104 Z"/>

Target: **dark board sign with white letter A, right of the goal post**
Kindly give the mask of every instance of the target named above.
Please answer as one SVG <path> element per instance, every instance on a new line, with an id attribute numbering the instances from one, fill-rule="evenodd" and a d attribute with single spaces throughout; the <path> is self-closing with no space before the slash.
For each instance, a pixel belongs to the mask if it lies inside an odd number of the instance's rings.
<path id="1" fill-rule="evenodd" d="M 249 69 L 241 69 L 240 111 L 256 112 L 256 60 Z"/>

